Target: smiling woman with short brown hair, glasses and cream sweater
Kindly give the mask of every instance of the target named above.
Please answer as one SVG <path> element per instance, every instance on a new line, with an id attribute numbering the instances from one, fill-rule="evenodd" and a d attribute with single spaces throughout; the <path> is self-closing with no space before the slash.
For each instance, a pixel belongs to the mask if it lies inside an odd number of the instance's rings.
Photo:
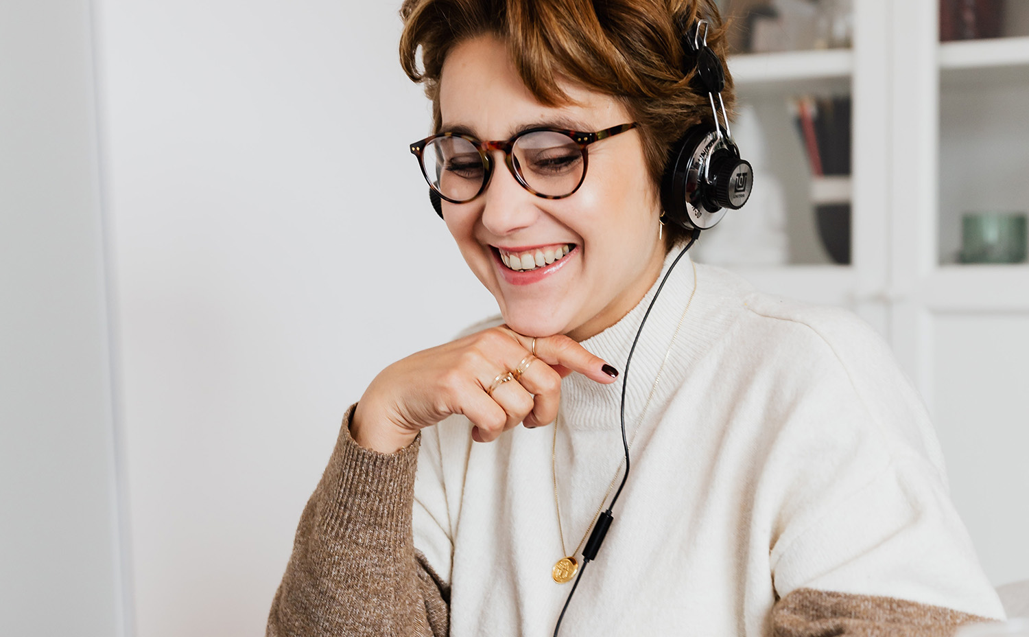
<path id="1" fill-rule="evenodd" d="M 669 148 L 712 119 L 685 50 L 700 29 L 717 27 L 713 2 L 406 0 L 401 15 L 436 133 L 412 149 L 502 320 L 388 366 L 348 412 L 269 635 L 552 634 L 573 586 L 565 634 L 944 635 L 1001 617 L 884 344 L 718 269 L 669 274 L 688 235 L 662 222 Z M 665 275 L 623 403 L 616 367 Z"/>

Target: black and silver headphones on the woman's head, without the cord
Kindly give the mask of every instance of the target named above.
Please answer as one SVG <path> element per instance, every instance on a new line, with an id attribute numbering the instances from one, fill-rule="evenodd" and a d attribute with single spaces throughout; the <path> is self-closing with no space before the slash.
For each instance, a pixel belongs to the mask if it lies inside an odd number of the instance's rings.
<path id="1" fill-rule="evenodd" d="M 661 183 L 665 219 L 687 231 L 713 227 L 728 210 L 738 210 L 747 203 L 753 186 L 753 168 L 740 156 L 740 149 L 733 141 L 721 99 L 725 70 L 707 45 L 707 30 L 708 23 L 703 20 L 683 29 L 683 73 L 696 67 L 694 81 L 699 91 L 708 94 L 714 123 L 691 127 L 672 145 Z M 715 97 L 721 106 L 724 126 L 719 123 Z M 439 193 L 432 188 L 429 202 L 439 218 L 443 218 Z"/>

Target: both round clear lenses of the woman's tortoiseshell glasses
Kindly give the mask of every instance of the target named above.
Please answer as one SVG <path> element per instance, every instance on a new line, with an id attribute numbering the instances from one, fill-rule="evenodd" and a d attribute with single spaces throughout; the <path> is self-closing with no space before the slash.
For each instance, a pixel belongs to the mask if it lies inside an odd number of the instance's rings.
<path id="1" fill-rule="evenodd" d="M 443 197 L 466 202 L 483 187 L 487 171 L 473 143 L 437 137 L 422 152 L 425 176 Z M 571 194 L 582 181 L 586 161 L 572 138 L 554 131 L 527 133 L 514 140 L 511 163 L 522 185 L 546 197 Z"/>

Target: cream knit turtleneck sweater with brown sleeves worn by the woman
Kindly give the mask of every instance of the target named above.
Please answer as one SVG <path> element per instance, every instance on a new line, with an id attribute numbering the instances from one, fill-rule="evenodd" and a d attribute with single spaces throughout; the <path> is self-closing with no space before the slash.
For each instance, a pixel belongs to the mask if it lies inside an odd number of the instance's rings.
<path id="1" fill-rule="evenodd" d="M 614 523 L 561 634 L 935 636 L 974 618 L 964 613 L 1002 617 L 924 408 L 885 344 L 846 312 L 696 272 L 684 318 L 688 259 L 671 275 L 628 374 L 562 384 L 568 551 L 622 463 L 627 380 L 633 445 Z M 582 345 L 625 371 L 655 288 Z M 344 427 L 270 635 L 553 634 L 571 588 L 551 577 L 564 555 L 553 429 L 477 444 L 469 427 L 451 418 L 393 455 L 357 447 Z"/>

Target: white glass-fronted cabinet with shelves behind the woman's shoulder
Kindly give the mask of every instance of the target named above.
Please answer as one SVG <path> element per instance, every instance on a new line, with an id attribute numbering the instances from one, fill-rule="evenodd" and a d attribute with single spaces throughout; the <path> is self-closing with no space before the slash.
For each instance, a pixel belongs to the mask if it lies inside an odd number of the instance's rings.
<path id="1" fill-rule="evenodd" d="M 790 241 L 817 241 L 803 218 L 813 202 L 852 209 L 849 266 L 803 262 L 794 245 L 791 264 L 730 267 L 760 289 L 848 307 L 888 340 L 933 414 L 952 496 L 999 585 L 1029 578 L 1029 264 L 953 261 L 962 212 L 1029 213 L 1029 29 L 941 43 L 937 7 L 854 0 L 851 49 L 730 61 L 738 102 L 780 117 L 761 120 L 776 164 L 799 163 L 776 167 L 794 171 L 787 200 L 806 207 Z M 782 104 L 808 94 L 852 97 L 849 178 L 807 171 Z"/>

